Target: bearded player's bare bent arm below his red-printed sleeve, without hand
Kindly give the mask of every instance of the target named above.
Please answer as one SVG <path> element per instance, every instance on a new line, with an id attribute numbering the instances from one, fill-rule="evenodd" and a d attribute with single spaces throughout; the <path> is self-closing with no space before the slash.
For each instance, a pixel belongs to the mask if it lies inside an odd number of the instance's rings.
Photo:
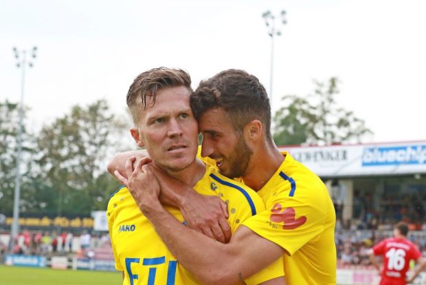
<path id="1" fill-rule="evenodd" d="M 158 200 L 145 202 L 142 211 L 168 249 L 203 284 L 239 284 L 284 254 L 278 244 L 260 237 L 246 226 L 240 226 L 231 241 L 222 244 L 183 226 Z"/>

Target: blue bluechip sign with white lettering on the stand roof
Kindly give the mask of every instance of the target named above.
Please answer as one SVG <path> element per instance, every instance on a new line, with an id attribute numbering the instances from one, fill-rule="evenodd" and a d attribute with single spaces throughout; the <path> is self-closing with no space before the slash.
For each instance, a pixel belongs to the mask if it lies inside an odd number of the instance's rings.
<path id="1" fill-rule="evenodd" d="M 425 162 L 426 145 L 367 147 L 362 155 L 362 166 L 423 165 Z"/>

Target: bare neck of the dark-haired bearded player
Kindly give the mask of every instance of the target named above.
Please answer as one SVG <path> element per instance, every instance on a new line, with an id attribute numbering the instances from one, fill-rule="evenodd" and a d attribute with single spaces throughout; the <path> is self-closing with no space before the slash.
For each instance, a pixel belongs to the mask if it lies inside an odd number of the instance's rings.
<path id="1" fill-rule="evenodd" d="M 273 143 L 259 145 L 253 151 L 246 175 L 243 176 L 244 183 L 259 191 L 271 179 L 281 166 L 284 156 Z"/>

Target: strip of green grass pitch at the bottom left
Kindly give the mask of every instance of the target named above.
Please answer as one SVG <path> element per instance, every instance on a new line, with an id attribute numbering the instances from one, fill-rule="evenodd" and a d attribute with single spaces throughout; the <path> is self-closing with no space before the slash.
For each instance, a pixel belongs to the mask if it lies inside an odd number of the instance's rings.
<path id="1" fill-rule="evenodd" d="M 120 272 L 0 265 L 0 285 L 120 285 Z"/>

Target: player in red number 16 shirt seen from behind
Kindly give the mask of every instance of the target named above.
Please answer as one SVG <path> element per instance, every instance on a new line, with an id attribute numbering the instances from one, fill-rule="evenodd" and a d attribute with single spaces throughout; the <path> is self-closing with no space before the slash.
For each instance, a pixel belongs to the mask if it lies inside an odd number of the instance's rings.
<path id="1" fill-rule="evenodd" d="M 394 237 L 385 239 L 370 249 L 370 260 L 379 271 L 380 266 L 374 255 L 383 255 L 383 270 L 381 271 L 380 285 L 405 285 L 413 282 L 425 267 L 425 261 L 417 246 L 407 240 L 408 226 L 399 222 L 394 226 Z M 418 266 L 410 278 L 406 273 L 410 267 L 410 261 L 415 260 Z"/>

